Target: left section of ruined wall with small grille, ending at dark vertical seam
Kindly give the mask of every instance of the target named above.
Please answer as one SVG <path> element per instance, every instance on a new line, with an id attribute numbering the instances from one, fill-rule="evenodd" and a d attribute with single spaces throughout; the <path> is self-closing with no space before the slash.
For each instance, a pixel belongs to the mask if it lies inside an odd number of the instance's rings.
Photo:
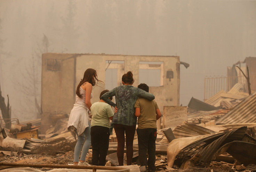
<path id="1" fill-rule="evenodd" d="M 66 114 L 73 107 L 76 56 L 73 54 L 42 55 L 41 130 L 51 125 L 50 115 Z M 51 67 L 55 66 L 56 69 Z"/>

